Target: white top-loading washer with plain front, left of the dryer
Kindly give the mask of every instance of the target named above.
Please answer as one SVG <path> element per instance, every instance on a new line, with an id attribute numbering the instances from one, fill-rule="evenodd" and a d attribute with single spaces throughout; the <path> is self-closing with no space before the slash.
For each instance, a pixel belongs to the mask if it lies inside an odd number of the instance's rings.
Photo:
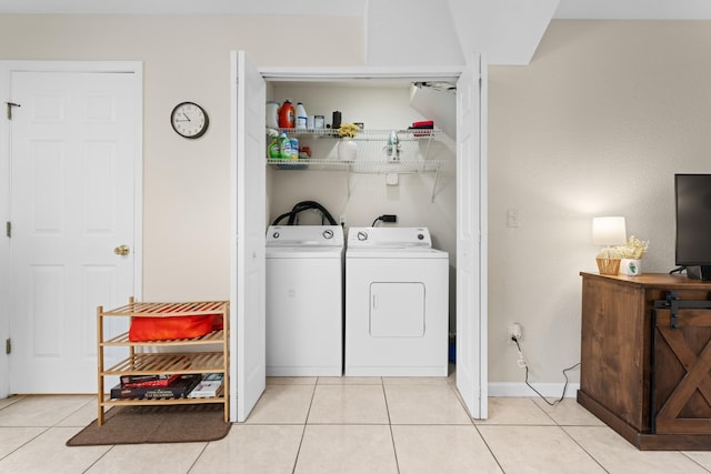
<path id="1" fill-rule="evenodd" d="M 267 375 L 343 373 L 343 230 L 267 231 Z"/>

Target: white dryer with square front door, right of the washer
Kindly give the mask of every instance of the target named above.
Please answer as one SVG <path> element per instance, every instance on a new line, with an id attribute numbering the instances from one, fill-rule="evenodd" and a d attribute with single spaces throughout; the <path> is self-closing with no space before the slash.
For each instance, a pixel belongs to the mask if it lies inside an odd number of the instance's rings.
<path id="1" fill-rule="evenodd" d="M 427 228 L 351 228 L 346 375 L 447 376 L 449 254 Z"/>

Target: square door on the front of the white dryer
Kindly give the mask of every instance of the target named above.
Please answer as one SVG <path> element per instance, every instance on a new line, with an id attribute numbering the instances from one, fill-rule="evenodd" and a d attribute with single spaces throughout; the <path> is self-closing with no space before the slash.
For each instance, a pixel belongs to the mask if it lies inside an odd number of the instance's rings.
<path id="1" fill-rule="evenodd" d="M 424 335 L 424 284 L 373 282 L 370 284 L 370 335 L 422 337 Z"/>

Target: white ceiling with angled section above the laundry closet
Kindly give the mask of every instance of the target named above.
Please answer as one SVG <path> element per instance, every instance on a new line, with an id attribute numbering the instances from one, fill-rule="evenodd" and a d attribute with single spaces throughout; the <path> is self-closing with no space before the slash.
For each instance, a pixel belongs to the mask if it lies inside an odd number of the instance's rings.
<path id="1" fill-rule="evenodd" d="M 11 13 L 360 17 L 368 65 L 392 65 L 388 51 L 423 38 L 429 52 L 403 63 L 485 52 L 490 64 L 528 64 L 552 19 L 709 20 L 711 0 L 0 0 L 0 14 Z"/>

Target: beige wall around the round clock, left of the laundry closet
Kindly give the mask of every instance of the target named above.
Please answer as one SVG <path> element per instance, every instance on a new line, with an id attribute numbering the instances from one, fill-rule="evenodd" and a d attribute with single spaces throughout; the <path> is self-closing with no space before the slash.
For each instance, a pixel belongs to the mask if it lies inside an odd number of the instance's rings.
<path id="1" fill-rule="evenodd" d="M 0 59 L 143 62 L 143 297 L 229 299 L 229 53 L 259 67 L 361 64 L 362 30 L 344 17 L 0 16 Z M 170 127 L 186 100 L 210 114 L 200 140 Z"/>

